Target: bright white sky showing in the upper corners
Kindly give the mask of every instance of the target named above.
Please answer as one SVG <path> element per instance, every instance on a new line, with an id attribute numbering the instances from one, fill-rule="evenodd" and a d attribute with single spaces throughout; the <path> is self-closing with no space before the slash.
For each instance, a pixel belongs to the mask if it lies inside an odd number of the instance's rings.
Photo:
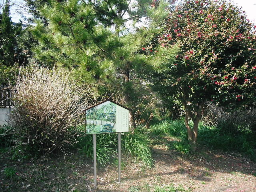
<path id="1" fill-rule="evenodd" d="M 14 0 L 15 2 L 21 2 L 22 0 Z M 242 7 L 242 10 L 244 10 L 247 14 L 248 19 L 256 24 L 256 0 L 231 0 L 235 4 L 237 4 L 238 7 Z M 12 22 L 19 22 L 20 16 L 15 13 L 14 10 L 11 10 L 11 17 Z"/>

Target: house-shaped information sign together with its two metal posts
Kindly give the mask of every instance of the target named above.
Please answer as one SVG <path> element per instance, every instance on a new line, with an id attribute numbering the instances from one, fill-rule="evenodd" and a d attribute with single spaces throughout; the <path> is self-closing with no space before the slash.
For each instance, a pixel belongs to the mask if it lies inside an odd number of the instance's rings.
<path id="1" fill-rule="evenodd" d="M 121 132 L 129 131 L 129 109 L 106 100 L 84 111 L 85 134 L 93 134 L 94 187 L 97 188 L 96 134 L 118 133 L 118 182 L 121 182 Z"/>

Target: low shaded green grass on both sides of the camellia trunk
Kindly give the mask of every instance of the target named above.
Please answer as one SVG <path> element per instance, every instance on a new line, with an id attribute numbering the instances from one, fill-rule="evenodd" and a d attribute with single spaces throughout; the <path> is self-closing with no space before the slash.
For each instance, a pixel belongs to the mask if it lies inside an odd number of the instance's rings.
<path id="1" fill-rule="evenodd" d="M 193 126 L 193 122 L 189 122 Z M 169 135 L 176 137 L 177 141 L 169 143 L 170 149 L 176 149 L 184 154 L 189 154 L 191 146 L 188 144 L 184 118 L 176 120 L 163 120 L 151 126 L 152 136 Z M 198 144 L 210 149 L 222 151 L 237 151 L 256 159 L 256 134 L 250 128 L 231 124 L 219 124 L 217 126 L 206 126 L 200 122 L 198 126 Z"/>

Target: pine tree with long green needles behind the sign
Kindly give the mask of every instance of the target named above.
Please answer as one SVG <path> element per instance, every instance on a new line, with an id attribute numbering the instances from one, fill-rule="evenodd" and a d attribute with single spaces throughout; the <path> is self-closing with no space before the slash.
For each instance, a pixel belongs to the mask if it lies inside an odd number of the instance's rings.
<path id="1" fill-rule="evenodd" d="M 158 7 L 152 7 L 151 3 L 146 1 L 142 7 L 132 11 L 128 8 L 129 2 L 119 0 L 112 3 L 52 1 L 40 9 L 48 26 L 37 21 L 33 29 L 40 43 L 35 55 L 49 66 L 75 68 L 85 82 L 103 82 L 108 90 L 114 84 L 112 90 L 124 95 L 126 105 L 135 106 L 132 84 L 138 80 L 137 73 L 153 69 L 155 64 L 166 62 L 176 55 L 172 49 L 162 51 L 164 48 L 160 48 L 154 56 L 146 55 L 142 48 L 161 30 L 155 28 L 155 23 L 168 14 L 163 11 L 164 2 L 161 1 Z M 127 20 L 138 19 L 145 15 L 145 11 L 151 16 L 148 28 L 138 28 L 132 34 L 122 28 L 127 25 Z M 126 12 L 131 16 L 129 19 L 123 18 Z M 139 16 L 140 12 L 143 14 Z M 110 28 L 112 25 L 115 26 L 114 31 Z M 130 117 L 130 122 L 134 122 L 132 112 Z"/>

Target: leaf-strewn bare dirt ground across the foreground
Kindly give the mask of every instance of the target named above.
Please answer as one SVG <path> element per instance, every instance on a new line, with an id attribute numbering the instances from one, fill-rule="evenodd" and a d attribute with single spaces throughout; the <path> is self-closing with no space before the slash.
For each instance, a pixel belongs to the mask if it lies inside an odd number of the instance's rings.
<path id="1" fill-rule="evenodd" d="M 204 146 L 184 155 L 170 150 L 170 142 L 152 142 L 153 168 L 123 154 L 121 183 L 117 159 L 98 168 L 97 189 L 93 163 L 79 152 L 20 162 L 5 152 L 0 154 L 0 192 L 256 192 L 256 162 Z M 15 174 L 10 177 L 6 170 Z"/>

